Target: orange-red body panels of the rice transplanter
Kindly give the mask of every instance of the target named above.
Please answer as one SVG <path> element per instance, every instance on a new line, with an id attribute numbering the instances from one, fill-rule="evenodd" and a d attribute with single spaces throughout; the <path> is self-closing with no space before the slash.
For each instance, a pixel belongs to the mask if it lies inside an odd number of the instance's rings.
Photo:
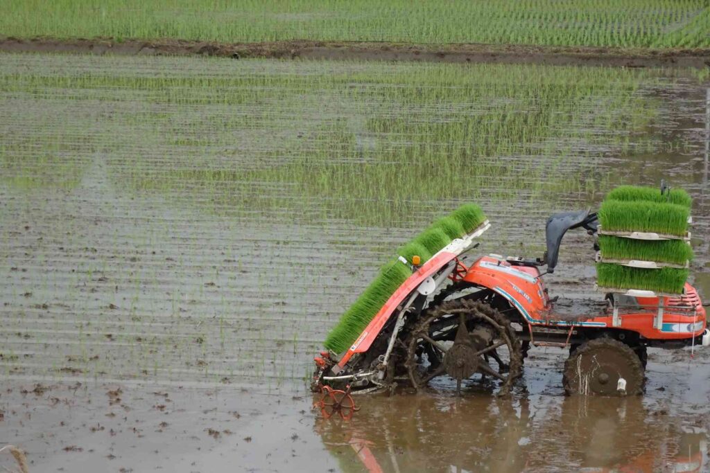
<path id="1" fill-rule="evenodd" d="M 535 343 L 535 328 L 569 328 L 569 335 L 572 335 L 574 328 L 614 328 L 633 331 L 645 339 L 654 340 L 655 343 L 663 340 L 697 338 L 706 328 L 705 308 L 701 305 L 696 289 L 690 284 L 685 285 L 685 295 L 682 297 L 631 298 L 633 300 L 626 302 L 628 307 L 618 318 L 620 323 L 615 325 L 611 307 L 601 313 L 558 311 L 555 302 L 547 294 L 545 282 L 540 277 L 540 270 L 537 267 L 517 266 L 503 258 L 493 256 L 481 257 L 473 265 L 466 267 L 457 255 L 442 251 L 413 272 L 412 276 L 395 291 L 360 337 L 341 357 L 338 362 L 339 367 L 345 367 L 356 353 L 369 350 L 395 309 L 403 304 L 403 301 L 427 277 L 432 277 L 452 261 L 456 263 L 456 267 L 449 279 L 491 289 L 506 299 L 527 323 L 532 335 L 532 343 Z M 662 313 L 662 325 L 658 325 L 655 319 L 659 304 L 665 308 Z M 540 344 L 545 343 L 549 342 L 540 340 Z"/>

